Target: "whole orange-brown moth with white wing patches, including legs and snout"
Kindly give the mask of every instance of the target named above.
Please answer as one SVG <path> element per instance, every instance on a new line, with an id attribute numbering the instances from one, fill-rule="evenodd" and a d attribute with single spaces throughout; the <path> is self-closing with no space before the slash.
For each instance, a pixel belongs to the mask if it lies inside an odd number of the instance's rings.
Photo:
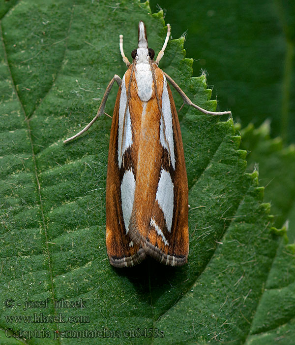
<path id="1" fill-rule="evenodd" d="M 114 75 L 97 115 L 77 135 L 87 131 L 104 113 L 110 90 L 119 86 L 111 127 L 107 189 L 106 245 L 115 267 L 134 266 L 151 256 L 159 262 L 181 266 L 188 256 L 188 186 L 180 126 L 169 81 L 189 104 L 193 104 L 176 82 L 158 64 L 170 36 L 170 25 L 156 60 L 148 48 L 145 24 L 138 26 L 138 48 L 122 79 Z"/>

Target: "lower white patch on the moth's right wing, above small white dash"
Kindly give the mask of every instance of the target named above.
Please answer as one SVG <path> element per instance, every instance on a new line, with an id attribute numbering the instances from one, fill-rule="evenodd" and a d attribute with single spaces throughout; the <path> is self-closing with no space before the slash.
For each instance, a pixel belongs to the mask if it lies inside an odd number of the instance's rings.
<path id="1" fill-rule="evenodd" d="M 161 169 L 161 176 L 160 181 L 158 184 L 157 194 L 156 194 L 156 201 L 158 202 L 159 206 L 161 207 L 167 229 L 170 232 L 172 227 L 172 220 L 173 220 L 173 206 L 174 206 L 174 193 L 173 193 L 173 182 L 170 176 L 170 173 L 166 172 L 166 170 Z"/>

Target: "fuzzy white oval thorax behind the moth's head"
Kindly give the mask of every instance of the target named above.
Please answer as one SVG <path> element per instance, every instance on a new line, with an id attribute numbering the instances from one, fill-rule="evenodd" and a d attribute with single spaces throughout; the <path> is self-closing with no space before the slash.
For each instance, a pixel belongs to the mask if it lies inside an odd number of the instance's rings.
<path id="1" fill-rule="evenodd" d="M 137 49 L 137 51 L 140 50 Z M 148 50 L 148 49 L 147 49 Z M 137 94 L 143 102 L 148 102 L 152 95 L 152 74 L 148 58 L 138 59 L 135 66 L 135 78 L 137 83 Z"/>

